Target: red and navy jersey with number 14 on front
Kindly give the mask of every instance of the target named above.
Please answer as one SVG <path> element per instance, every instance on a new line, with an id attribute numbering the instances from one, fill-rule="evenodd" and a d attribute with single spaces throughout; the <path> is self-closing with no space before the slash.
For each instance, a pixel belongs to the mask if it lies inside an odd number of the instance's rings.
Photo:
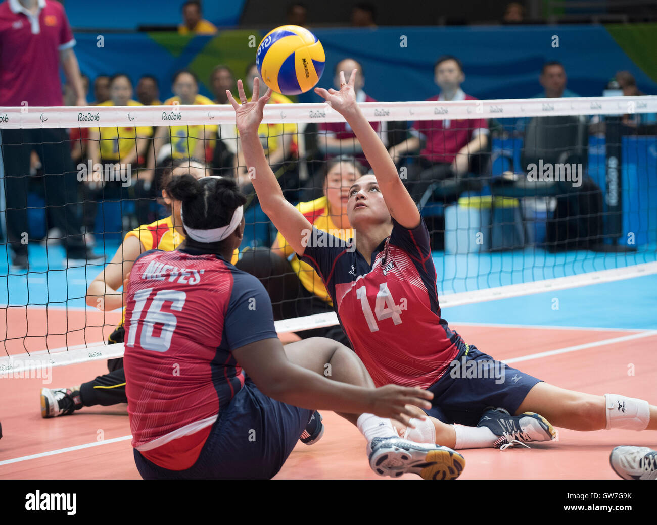
<path id="1" fill-rule="evenodd" d="M 353 246 L 314 227 L 302 260 L 327 285 L 340 324 L 374 384 L 426 389 L 465 343 L 440 316 L 424 221 L 415 230 L 393 223 L 372 264 Z"/>

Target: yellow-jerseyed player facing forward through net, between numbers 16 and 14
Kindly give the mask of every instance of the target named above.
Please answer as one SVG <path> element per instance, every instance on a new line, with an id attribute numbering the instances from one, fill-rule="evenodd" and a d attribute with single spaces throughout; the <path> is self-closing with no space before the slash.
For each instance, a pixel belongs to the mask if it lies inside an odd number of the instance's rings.
<path id="1" fill-rule="evenodd" d="M 347 217 L 347 192 L 351 184 L 365 173 L 353 157 L 330 159 L 325 165 L 324 196 L 302 202 L 297 208 L 318 230 L 348 240 L 353 236 Z M 274 319 L 290 319 L 311 314 L 332 312 L 333 304 L 317 272 L 300 261 L 294 249 L 279 233 L 267 248 L 256 248 L 242 253 L 237 263 L 240 270 L 258 277 L 274 305 Z M 343 345 L 349 341 L 340 326 L 327 326 L 299 331 L 302 339 L 328 337 Z"/>

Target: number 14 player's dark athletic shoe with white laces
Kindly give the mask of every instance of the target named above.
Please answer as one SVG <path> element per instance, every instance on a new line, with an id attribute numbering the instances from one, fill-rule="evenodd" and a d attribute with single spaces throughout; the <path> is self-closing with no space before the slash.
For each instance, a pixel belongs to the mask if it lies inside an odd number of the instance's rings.
<path id="1" fill-rule="evenodd" d="M 556 437 L 555 429 L 545 417 L 533 412 L 510 415 L 503 408 L 485 411 L 477 427 L 488 427 L 499 436 L 493 447 L 501 450 L 516 445 L 526 446 L 524 443 L 530 441 L 551 441 Z"/>

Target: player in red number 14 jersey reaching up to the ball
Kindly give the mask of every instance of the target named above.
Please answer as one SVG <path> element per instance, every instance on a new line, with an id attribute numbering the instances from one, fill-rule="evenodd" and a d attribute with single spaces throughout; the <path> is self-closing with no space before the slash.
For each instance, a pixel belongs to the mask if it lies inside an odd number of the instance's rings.
<path id="1" fill-rule="evenodd" d="M 354 82 L 352 72 L 349 83 L 341 76 L 340 91 L 315 89 L 348 121 L 375 174 L 361 177 L 350 188 L 347 213 L 354 236 L 347 246 L 313 228 L 284 200 L 256 133 L 267 95 L 246 102 L 238 82 L 242 105 L 231 102 L 246 165 L 258 174 L 253 183 L 263 211 L 298 257 L 323 278 L 338 320 L 374 384 L 434 392 L 433 406 L 426 410 L 433 417 L 420 421 L 408 437 L 457 449 L 506 448 L 516 442 L 552 440 L 555 431 L 545 417 L 558 427 L 579 431 L 657 430 L 657 407 L 644 400 L 560 389 L 507 365 L 509 380 L 502 384 L 491 374 L 461 379 L 447 372 L 452 362 L 476 368 L 493 358 L 465 343 L 441 317 L 428 230 L 386 148 L 356 104 Z"/>

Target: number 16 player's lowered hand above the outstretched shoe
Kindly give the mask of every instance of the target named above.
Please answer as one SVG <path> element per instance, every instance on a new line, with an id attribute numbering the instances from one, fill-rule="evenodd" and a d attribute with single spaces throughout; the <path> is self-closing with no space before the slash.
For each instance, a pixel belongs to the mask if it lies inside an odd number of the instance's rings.
<path id="1" fill-rule="evenodd" d="M 417 410 L 407 405 L 418 408 L 431 408 L 429 400 L 434 398 L 432 392 L 419 388 L 399 387 L 398 385 L 385 385 L 374 390 L 371 413 L 378 417 L 389 417 L 401 421 L 408 427 L 413 427 L 411 418 L 425 419 L 417 414 Z"/>

